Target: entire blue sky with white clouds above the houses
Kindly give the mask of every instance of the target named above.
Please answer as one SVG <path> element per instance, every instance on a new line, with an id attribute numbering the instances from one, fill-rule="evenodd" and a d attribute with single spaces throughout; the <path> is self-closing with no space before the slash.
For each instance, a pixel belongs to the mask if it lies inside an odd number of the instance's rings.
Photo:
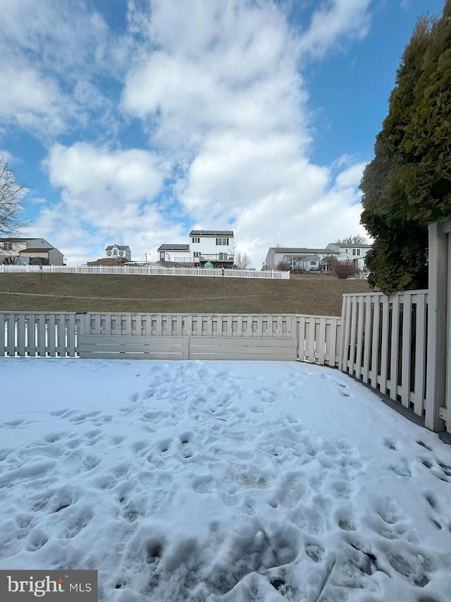
<path id="1" fill-rule="evenodd" d="M 444 0 L 0 0 L 0 153 L 70 265 L 192 228 L 365 234 L 359 181 L 416 19 Z"/>

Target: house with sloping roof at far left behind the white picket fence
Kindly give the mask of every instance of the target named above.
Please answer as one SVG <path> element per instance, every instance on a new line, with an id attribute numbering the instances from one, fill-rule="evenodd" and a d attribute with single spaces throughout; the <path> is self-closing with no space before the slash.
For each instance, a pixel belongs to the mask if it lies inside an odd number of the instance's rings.
<path id="1" fill-rule="evenodd" d="M 63 265 L 63 253 L 45 239 L 0 239 L 0 263 Z"/>

